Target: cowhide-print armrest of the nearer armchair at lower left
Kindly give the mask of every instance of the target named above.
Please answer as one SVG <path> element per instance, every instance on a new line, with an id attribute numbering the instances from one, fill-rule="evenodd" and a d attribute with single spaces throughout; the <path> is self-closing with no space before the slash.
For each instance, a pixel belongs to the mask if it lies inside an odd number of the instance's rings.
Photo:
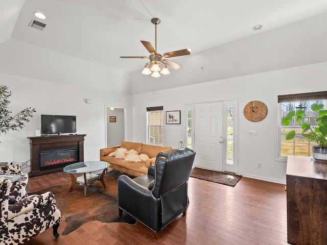
<path id="1" fill-rule="evenodd" d="M 50 191 L 40 195 L 29 195 L 19 202 L 8 206 L 8 219 L 28 213 L 49 203 L 56 203 L 54 195 Z"/>

